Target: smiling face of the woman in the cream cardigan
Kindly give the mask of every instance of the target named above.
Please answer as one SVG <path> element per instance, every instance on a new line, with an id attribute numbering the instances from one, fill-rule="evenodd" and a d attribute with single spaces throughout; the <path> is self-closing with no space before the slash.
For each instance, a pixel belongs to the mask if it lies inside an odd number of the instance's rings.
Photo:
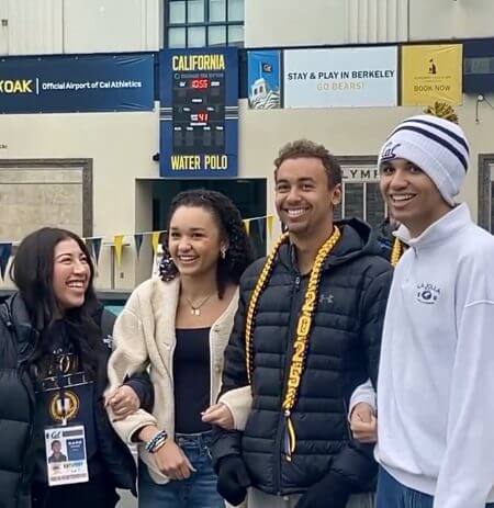
<path id="1" fill-rule="evenodd" d="M 199 206 L 179 206 L 170 221 L 168 250 L 182 276 L 216 272 L 222 247 L 215 218 Z"/>

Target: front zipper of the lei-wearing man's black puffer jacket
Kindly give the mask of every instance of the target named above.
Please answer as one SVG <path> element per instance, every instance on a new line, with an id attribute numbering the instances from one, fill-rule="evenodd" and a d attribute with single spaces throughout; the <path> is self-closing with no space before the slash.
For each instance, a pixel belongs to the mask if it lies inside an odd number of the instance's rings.
<path id="1" fill-rule="evenodd" d="M 295 280 L 293 283 L 291 304 L 290 304 L 290 320 L 289 320 L 289 332 L 288 332 L 288 343 L 287 343 L 287 355 L 284 359 L 284 376 L 283 376 L 283 385 L 282 385 L 283 391 L 281 393 L 281 402 L 283 402 L 284 392 L 285 392 L 284 387 L 287 386 L 287 381 L 290 374 L 289 372 L 290 361 L 291 361 L 292 353 L 293 353 L 293 340 L 292 339 L 293 339 L 293 334 L 294 334 L 295 326 L 296 326 L 295 324 L 297 321 L 297 316 L 295 315 L 295 312 L 297 311 L 295 295 L 300 290 L 301 282 L 302 282 L 302 276 L 299 272 L 296 272 Z M 277 490 L 277 494 L 280 496 L 282 494 L 281 493 L 281 461 L 283 460 L 281 448 L 283 443 L 283 434 L 284 432 L 287 432 L 287 429 L 285 429 L 285 418 L 283 416 L 281 407 L 279 410 L 280 410 L 280 416 L 278 419 L 277 439 L 274 442 L 274 454 L 276 454 L 274 455 L 274 459 L 276 459 L 274 460 L 274 488 Z"/>

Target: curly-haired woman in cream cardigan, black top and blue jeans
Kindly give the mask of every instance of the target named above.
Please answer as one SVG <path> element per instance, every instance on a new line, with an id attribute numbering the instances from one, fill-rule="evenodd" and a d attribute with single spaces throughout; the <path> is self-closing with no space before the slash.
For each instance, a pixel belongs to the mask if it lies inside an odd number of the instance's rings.
<path id="1" fill-rule="evenodd" d="M 215 404 L 238 282 L 252 251 L 232 201 L 206 190 L 175 197 L 164 251 L 160 276 L 134 291 L 115 323 L 109 363 L 112 391 L 149 366 L 154 409 L 114 426 L 126 442 L 139 441 L 141 508 L 220 508 L 211 425 L 242 427 L 235 408 L 250 402 L 245 390 L 232 394 L 229 406 Z"/>

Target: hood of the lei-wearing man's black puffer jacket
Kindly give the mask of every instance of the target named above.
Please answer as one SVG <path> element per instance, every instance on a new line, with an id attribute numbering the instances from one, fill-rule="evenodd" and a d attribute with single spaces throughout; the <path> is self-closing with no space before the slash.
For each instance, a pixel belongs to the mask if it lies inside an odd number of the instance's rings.
<path id="1" fill-rule="evenodd" d="M 325 262 L 325 268 L 347 263 L 361 256 L 382 256 L 382 249 L 366 222 L 359 218 L 335 221 L 341 232 L 341 238 Z M 282 246 L 280 261 L 290 267 L 296 266 L 294 245 Z"/>

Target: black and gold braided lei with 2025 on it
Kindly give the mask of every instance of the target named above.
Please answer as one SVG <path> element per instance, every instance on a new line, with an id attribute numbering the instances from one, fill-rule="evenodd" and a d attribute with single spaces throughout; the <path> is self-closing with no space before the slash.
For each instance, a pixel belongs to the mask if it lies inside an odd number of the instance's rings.
<path id="1" fill-rule="evenodd" d="M 311 276 L 308 278 L 307 290 L 305 291 L 304 303 L 302 305 L 299 321 L 296 324 L 295 338 L 293 341 L 293 353 L 290 361 L 289 377 L 287 386 L 284 388 L 284 398 L 281 409 L 285 418 L 287 431 L 284 439 L 284 453 L 288 461 L 292 460 L 292 454 L 295 451 L 296 445 L 296 433 L 291 419 L 291 411 L 296 404 L 299 396 L 299 388 L 302 380 L 302 374 L 305 368 L 306 352 L 308 347 L 308 336 L 312 329 L 313 314 L 318 301 L 318 291 L 321 274 L 323 272 L 323 264 L 329 252 L 334 249 L 338 242 L 341 234 L 338 227 L 335 226 L 333 235 L 323 244 L 317 251 L 317 256 L 312 268 Z M 250 296 L 247 319 L 245 327 L 245 349 L 246 349 L 246 364 L 247 364 L 247 377 L 249 384 L 252 383 L 254 374 L 254 321 L 257 312 L 257 304 L 262 291 L 271 276 L 271 272 L 274 266 L 274 259 L 281 245 L 284 244 L 289 238 L 288 234 L 284 234 L 274 245 L 271 253 L 268 256 L 259 279 L 254 287 Z"/>

